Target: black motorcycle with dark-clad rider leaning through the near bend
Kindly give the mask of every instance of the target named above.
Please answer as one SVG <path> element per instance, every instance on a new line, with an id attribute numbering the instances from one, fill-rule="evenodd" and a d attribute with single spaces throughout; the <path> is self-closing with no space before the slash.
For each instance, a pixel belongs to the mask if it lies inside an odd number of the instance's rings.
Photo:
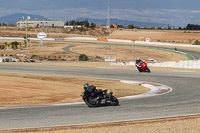
<path id="1" fill-rule="evenodd" d="M 88 107 L 119 105 L 119 101 L 115 96 L 113 96 L 113 92 L 108 94 L 107 90 L 94 89 L 94 87 L 89 87 L 88 89 L 84 89 L 81 96 Z"/>

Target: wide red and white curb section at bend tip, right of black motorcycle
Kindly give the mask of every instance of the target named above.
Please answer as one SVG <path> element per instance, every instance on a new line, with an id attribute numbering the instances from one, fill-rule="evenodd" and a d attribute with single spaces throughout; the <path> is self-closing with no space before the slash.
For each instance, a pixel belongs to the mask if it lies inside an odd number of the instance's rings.
<path id="1" fill-rule="evenodd" d="M 167 94 L 173 90 L 169 86 L 158 84 L 158 83 L 150 83 L 150 82 L 142 82 L 142 81 L 120 81 L 120 82 L 127 83 L 127 84 L 141 85 L 146 88 L 150 88 L 151 91 L 144 93 L 144 94 L 121 97 L 121 98 L 118 98 L 119 100 L 158 96 L 158 95 Z"/>

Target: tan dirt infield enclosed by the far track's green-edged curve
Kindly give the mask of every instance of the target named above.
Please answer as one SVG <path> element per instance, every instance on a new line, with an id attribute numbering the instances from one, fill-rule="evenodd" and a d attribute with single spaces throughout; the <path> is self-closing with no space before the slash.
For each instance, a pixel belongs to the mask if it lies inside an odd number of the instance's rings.
<path id="1" fill-rule="evenodd" d="M 135 61 L 137 58 L 141 58 L 145 61 L 155 59 L 158 62 L 188 60 L 184 55 L 138 47 L 132 48 L 124 46 L 99 46 L 85 44 L 77 45 L 77 47 L 73 47 L 71 50 L 76 53 L 84 53 L 88 56 L 101 57 L 102 59 L 105 59 L 106 54 L 115 54 L 117 61 Z"/>

